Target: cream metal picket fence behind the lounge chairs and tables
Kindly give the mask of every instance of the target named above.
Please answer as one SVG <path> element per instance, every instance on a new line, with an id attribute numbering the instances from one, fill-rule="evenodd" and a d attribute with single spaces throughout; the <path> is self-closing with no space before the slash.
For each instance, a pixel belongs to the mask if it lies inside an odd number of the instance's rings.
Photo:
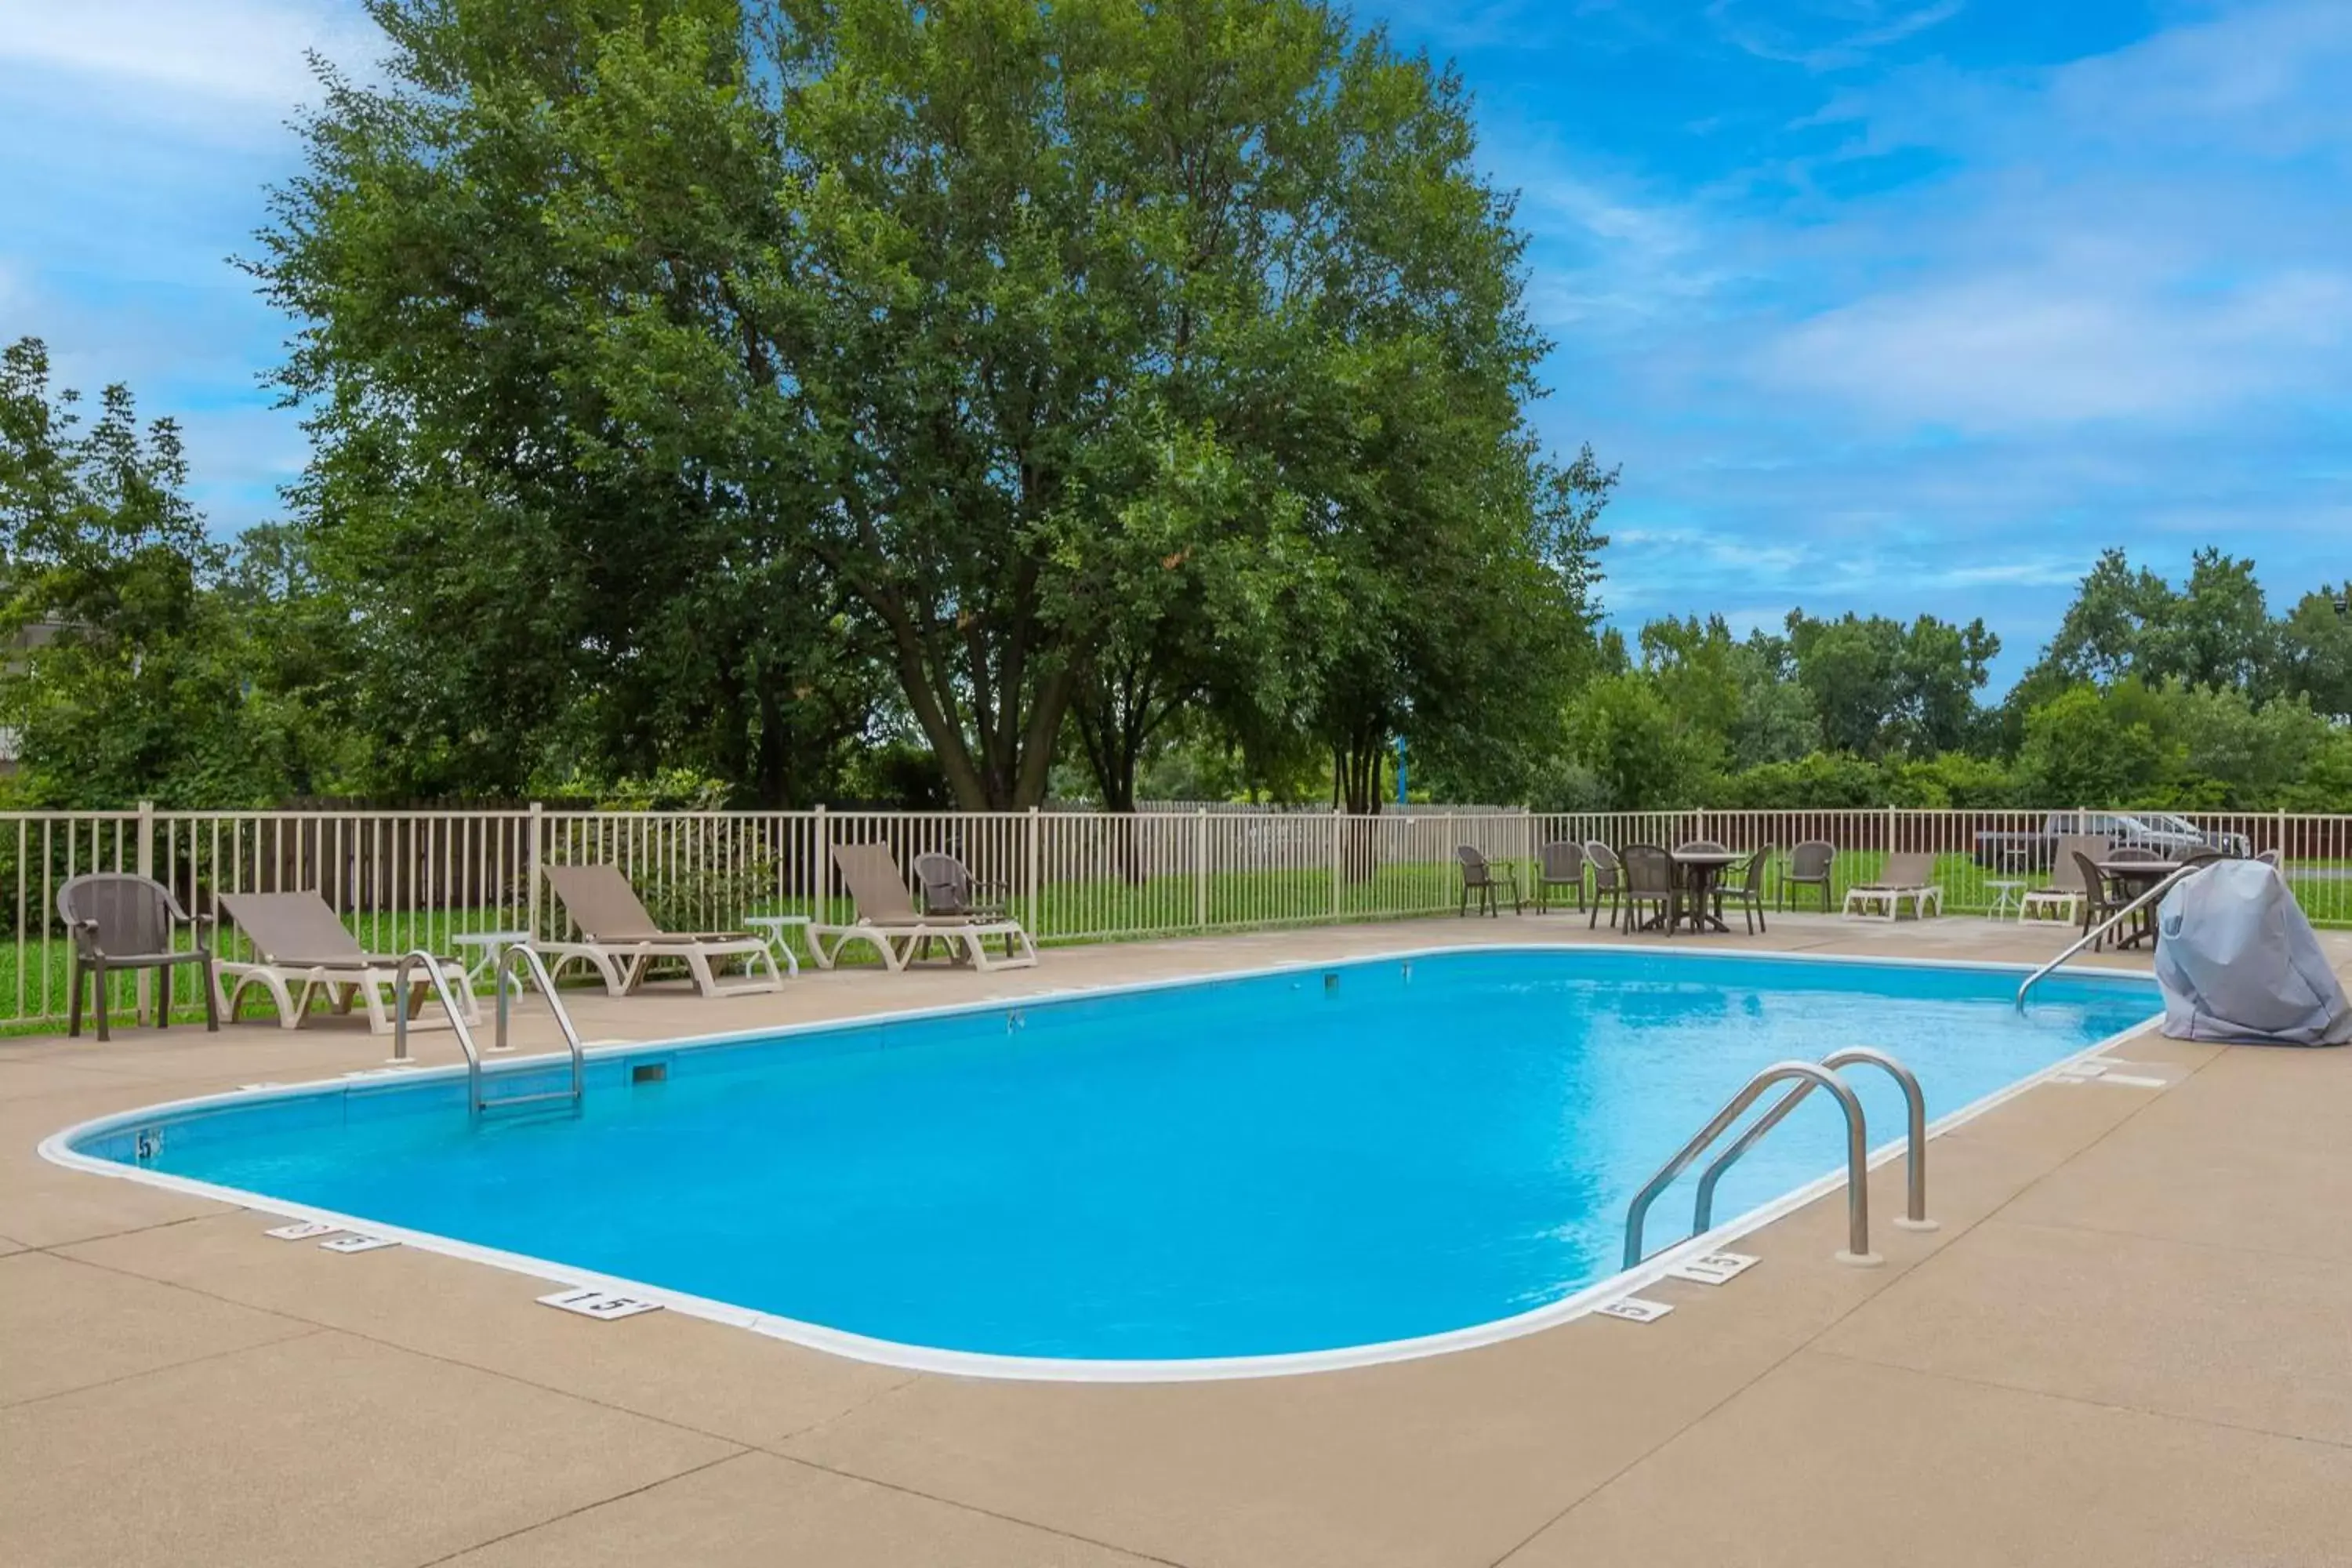
<path id="1" fill-rule="evenodd" d="M 1456 846 L 1519 865 L 1569 839 L 1790 851 L 1825 842 L 1835 886 L 1872 877 L 1893 851 L 1931 853 L 1945 910 L 1985 912 L 2049 882 L 2058 832 L 2105 832 L 2178 853 L 2213 842 L 2279 851 L 2288 884 L 2324 926 L 2352 926 L 2352 816 L 2100 811 L 59 811 L 0 813 L 0 1027 L 66 1013 L 66 931 L 56 889 L 78 872 L 165 882 L 193 912 L 219 893 L 315 889 L 374 952 L 452 950 L 475 931 L 557 936 L 543 865 L 609 863 L 656 919 L 727 929 L 748 914 L 854 917 L 835 844 L 889 844 L 901 867 L 953 853 L 1047 943 L 1312 926 L 1449 912 Z M 14 898 L 7 889 L 14 886 Z M 1809 898 L 1818 896 L 1806 891 Z M 1835 907 L 1835 898 L 1832 905 Z M 219 950 L 240 957 L 230 924 Z M 132 980 L 118 1004 L 132 999 Z"/>

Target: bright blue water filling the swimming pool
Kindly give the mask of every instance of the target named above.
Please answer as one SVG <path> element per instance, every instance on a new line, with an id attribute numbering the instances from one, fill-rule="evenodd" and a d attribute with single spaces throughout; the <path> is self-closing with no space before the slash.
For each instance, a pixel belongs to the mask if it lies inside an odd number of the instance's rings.
<path id="1" fill-rule="evenodd" d="M 1446 952 L 642 1048 L 593 1067 L 576 1119 L 475 1126 L 461 1084 L 339 1086 L 167 1119 L 148 1168 L 908 1345 L 1334 1349 L 1616 1272 L 1632 1192 L 1764 1063 L 1884 1046 L 1940 1117 L 2157 1006 L 2147 983 L 2072 976 L 2018 1018 L 2016 983 Z M 633 1086 L 654 1060 L 668 1077 Z M 1856 1077 L 1872 1143 L 1898 1138 L 1893 1086 Z M 80 1147 L 132 1161 L 132 1138 Z M 1717 1215 L 1837 1164 L 1816 1095 Z M 1651 1246 L 1686 1227 L 1689 1178 Z"/>

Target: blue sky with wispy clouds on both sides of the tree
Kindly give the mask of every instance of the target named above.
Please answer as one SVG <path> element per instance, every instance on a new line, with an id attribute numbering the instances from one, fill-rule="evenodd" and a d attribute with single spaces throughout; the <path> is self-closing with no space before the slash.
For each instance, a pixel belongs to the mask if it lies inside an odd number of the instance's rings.
<path id="1" fill-rule="evenodd" d="M 1623 463 L 1611 614 L 1985 616 L 2105 545 L 2352 574 L 2352 0 L 1364 0 L 1458 61 Z M 0 339 L 183 421 L 223 531 L 303 458 L 228 266 L 348 0 L 0 0 Z"/>

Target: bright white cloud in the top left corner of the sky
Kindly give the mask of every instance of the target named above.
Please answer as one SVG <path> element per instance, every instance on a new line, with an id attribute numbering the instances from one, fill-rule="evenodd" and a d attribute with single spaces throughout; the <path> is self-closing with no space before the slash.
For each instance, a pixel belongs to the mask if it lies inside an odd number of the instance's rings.
<path id="1" fill-rule="evenodd" d="M 287 108 L 306 49 L 362 63 L 374 28 L 336 0 L 0 0 L 0 61 L 120 89 Z"/>

